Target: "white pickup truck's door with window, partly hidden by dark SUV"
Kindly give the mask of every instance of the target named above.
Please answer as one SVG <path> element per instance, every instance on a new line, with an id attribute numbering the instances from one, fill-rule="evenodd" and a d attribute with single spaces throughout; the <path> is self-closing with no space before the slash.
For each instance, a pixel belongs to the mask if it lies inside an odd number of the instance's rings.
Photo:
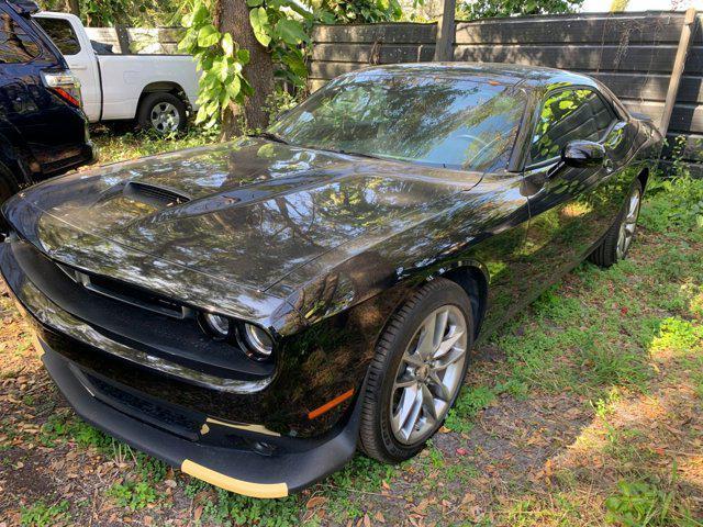
<path id="1" fill-rule="evenodd" d="M 101 86 L 96 53 L 89 42 L 81 42 L 67 19 L 52 15 L 34 16 L 34 21 L 54 42 L 68 63 L 69 69 L 80 81 L 82 110 L 90 122 L 100 120 Z"/>

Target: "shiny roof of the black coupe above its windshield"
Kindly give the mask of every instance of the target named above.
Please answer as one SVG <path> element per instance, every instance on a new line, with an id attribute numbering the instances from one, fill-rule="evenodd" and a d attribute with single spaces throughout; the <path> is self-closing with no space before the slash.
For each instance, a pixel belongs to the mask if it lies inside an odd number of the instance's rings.
<path id="1" fill-rule="evenodd" d="M 406 63 L 364 68 L 366 74 L 404 74 L 414 76 L 436 76 L 443 78 L 472 78 L 503 85 L 529 88 L 548 88 L 555 85 L 583 85 L 600 88 L 598 82 L 581 74 L 547 68 L 504 63 Z M 478 79 L 477 79 L 478 80 Z"/>

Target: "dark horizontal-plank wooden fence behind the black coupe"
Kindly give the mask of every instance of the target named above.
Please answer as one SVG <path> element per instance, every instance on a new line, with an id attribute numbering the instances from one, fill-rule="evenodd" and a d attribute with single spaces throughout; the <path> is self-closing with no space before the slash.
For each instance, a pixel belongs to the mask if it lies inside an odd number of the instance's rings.
<path id="1" fill-rule="evenodd" d="M 682 12 L 589 13 L 458 22 L 454 60 L 517 63 L 570 69 L 609 86 L 631 110 L 659 123 Z M 313 32 L 310 88 L 369 64 L 427 61 L 435 24 L 320 25 Z M 693 38 L 669 126 L 684 136 L 682 156 L 703 172 L 703 32 Z M 670 147 L 669 147 L 670 148 Z"/>

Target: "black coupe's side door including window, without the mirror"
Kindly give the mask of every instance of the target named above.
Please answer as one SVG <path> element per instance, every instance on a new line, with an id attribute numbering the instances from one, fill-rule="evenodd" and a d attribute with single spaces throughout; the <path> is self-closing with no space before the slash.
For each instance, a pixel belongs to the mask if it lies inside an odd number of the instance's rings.
<path id="1" fill-rule="evenodd" d="M 627 122 L 592 87 L 549 91 L 538 104 L 524 191 L 531 221 L 523 256 L 531 280 L 549 284 L 584 259 L 614 222 L 632 182 L 626 156 Z M 602 166 L 574 168 L 561 161 L 570 141 L 602 144 Z"/>

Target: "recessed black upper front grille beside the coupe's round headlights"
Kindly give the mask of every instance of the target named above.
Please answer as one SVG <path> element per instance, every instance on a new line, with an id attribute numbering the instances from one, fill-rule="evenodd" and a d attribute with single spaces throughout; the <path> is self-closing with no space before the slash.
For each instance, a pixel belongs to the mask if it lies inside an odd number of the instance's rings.
<path id="1" fill-rule="evenodd" d="M 274 363 L 253 361 L 238 347 L 205 335 L 192 309 L 103 276 L 90 274 L 88 288 L 86 273 L 26 242 L 13 243 L 12 251 L 48 300 L 115 343 L 222 379 L 259 381 L 274 374 Z"/>

